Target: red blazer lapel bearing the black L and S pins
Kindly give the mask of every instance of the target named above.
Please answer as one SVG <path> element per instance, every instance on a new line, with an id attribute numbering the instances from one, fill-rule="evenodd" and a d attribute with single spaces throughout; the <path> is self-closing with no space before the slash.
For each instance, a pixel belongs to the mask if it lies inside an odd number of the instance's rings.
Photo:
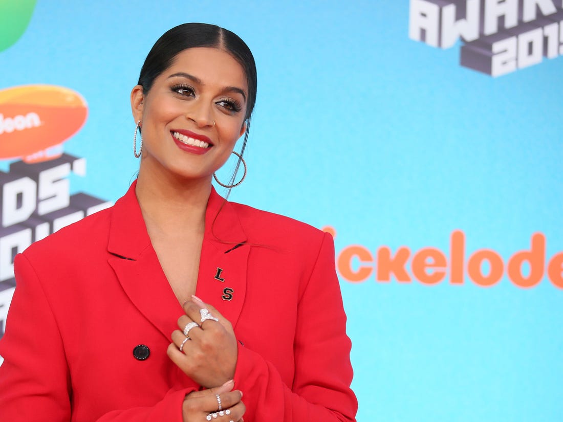
<path id="1" fill-rule="evenodd" d="M 236 326 L 247 285 L 250 245 L 234 206 L 212 190 L 205 213 L 196 296 Z"/>

